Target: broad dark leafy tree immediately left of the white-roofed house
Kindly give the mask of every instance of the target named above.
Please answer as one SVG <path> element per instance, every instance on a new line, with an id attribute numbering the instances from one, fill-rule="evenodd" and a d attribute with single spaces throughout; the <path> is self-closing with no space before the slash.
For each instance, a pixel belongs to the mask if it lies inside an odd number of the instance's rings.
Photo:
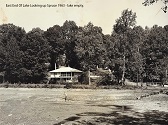
<path id="1" fill-rule="evenodd" d="M 25 82 L 39 83 L 43 82 L 47 77 L 47 66 L 50 60 L 50 46 L 47 39 L 44 37 L 44 31 L 40 28 L 32 29 L 22 39 L 20 49 L 23 51 L 23 67 L 21 72 L 24 72 L 27 77 Z M 30 79 L 28 79 L 30 78 Z"/>

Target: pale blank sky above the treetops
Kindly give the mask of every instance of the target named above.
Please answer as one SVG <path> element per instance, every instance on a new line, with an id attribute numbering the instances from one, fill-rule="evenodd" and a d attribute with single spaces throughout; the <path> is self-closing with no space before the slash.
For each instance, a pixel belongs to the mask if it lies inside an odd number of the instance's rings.
<path id="1" fill-rule="evenodd" d="M 168 12 L 161 10 L 162 2 L 147 7 L 142 2 L 144 0 L 0 0 L 0 24 L 13 23 L 28 32 L 36 27 L 47 30 L 54 25 L 62 26 L 71 20 L 78 26 L 91 22 L 100 26 L 104 34 L 111 34 L 115 20 L 123 10 L 129 9 L 136 12 L 137 26 L 168 25 Z"/>

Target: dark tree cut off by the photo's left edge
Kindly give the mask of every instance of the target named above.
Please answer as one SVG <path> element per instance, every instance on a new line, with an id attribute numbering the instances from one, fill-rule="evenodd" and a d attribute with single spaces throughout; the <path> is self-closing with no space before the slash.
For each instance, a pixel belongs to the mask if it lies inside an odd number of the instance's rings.
<path id="1" fill-rule="evenodd" d="M 17 82 L 18 70 L 21 66 L 20 42 L 25 30 L 13 24 L 0 25 L 0 72 L 4 72 L 5 80 Z"/>

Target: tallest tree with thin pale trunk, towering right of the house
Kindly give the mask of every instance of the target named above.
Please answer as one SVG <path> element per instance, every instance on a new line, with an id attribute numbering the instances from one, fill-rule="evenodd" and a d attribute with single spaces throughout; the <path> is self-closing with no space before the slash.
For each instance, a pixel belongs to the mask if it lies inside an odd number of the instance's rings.
<path id="1" fill-rule="evenodd" d="M 113 29 L 113 36 L 117 38 L 115 46 L 115 53 L 117 55 L 116 65 L 118 65 L 118 71 L 122 70 L 122 76 L 117 76 L 118 81 L 121 77 L 121 83 L 124 84 L 125 81 L 125 71 L 127 70 L 128 58 L 131 56 L 132 49 L 132 28 L 136 24 L 136 13 L 133 13 L 132 10 L 124 10 L 116 20 L 116 24 Z M 121 68 L 122 67 L 122 68 Z M 116 74 L 120 75 L 120 73 Z"/>

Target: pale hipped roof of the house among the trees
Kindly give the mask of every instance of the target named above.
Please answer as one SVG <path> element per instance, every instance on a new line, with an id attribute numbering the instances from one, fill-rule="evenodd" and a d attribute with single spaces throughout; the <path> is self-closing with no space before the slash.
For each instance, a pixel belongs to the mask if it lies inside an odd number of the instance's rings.
<path id="1" fill-rule="evenodd" d="M 52 70 L 50 72 L 52 73 L 52 72 L 82 72 L 82 71 L 80 71 L 78 69 L 71 68 L 71 67 L 60 67 L 60 68 Z"/>

